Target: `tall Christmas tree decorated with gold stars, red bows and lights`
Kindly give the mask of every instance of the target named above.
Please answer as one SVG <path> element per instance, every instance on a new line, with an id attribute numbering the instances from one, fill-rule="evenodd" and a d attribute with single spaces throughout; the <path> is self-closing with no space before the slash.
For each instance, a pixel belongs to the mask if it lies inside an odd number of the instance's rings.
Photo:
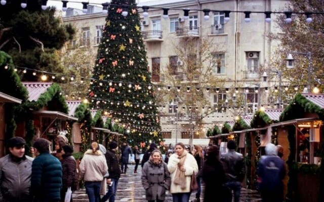
<path id="1" fill-rule="evenodd" d="M 93 109 L 125 128 L 130 145 L 164 149 L 135 0 L 112 0 L 93 70 Z M 127 15 L 126 15 L 127 11 Z"/>

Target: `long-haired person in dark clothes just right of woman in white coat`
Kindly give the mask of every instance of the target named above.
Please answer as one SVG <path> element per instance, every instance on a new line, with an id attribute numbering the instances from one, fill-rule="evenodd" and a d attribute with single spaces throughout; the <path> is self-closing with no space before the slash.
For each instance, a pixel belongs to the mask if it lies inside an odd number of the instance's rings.
<path id="1" fill-rule="evenodd" d="M 204 155 L 203 155 L 203 149 L 199 145 L 193 145 L 193 157 L 197 162 L 198 165 L 198 174 L 196 175 L 198 190 L 196 193 L 196 198 L 194 200 L 191 200 L 191 202 L 200 202 L 200 193 L 201 193 L 201 168 L 203 167 L 204 162 Z"/>

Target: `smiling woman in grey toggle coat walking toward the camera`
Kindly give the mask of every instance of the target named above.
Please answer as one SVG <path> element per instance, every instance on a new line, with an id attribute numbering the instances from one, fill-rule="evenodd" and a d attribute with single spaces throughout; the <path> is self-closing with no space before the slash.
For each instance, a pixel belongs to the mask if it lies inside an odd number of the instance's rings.
<path id="1" fill-rule="evenodd" d="M 142 184 L 145 189 L 146 199 L 150 202 L 163 202 L 166 198 L 166 190 L 171 184 L 170 173 L 167 164 L 163 162 L 159 150 L 151 153 L 149 161 L 142 169 Z"/>

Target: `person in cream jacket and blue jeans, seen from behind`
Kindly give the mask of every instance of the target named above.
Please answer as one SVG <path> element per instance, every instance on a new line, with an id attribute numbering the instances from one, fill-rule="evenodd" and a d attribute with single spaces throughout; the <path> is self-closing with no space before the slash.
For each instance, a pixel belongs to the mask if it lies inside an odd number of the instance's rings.
<path id="1" fill-rule="evenodd" d="M 91 143 L 80 163 L 80 175 L 84 178 L 89 202 L 99 202 L 101 181 L 107 173 L 108 166 L 105 157 L 99 150 L 97 142 Z"/>

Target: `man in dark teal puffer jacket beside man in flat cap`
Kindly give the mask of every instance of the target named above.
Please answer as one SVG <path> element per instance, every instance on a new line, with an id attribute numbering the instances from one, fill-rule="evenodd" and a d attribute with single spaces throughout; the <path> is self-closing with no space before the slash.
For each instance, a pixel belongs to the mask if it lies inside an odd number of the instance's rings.
<path id="1" fill-rule="evenodd" d="M 31 166 L 31 193 L 36 202 L 58 202 L 62 188 L 61 162 L 50 154 L 49 141 L 34 142 L 36 158 Z"/>

